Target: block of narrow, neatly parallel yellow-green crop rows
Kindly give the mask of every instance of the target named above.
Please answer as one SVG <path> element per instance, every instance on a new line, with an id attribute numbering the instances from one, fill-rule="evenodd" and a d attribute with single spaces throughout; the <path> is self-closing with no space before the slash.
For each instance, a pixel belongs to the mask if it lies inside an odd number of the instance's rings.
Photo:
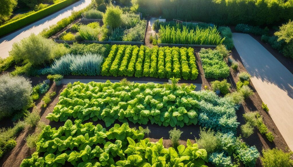
<path id="1" fill-rule="evenodd" d="M 198 70 L 193 48 L 113 45 L 101 74 L 194 80 Z"/>

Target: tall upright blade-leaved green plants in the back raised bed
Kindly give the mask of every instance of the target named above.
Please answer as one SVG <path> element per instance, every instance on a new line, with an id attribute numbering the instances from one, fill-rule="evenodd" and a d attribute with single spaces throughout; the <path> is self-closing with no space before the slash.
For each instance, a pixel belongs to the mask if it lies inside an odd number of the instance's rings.
<path id="1" fill-rule="evenodd" d="M 199 44 L 219 45 L 225 38 L 222 38 L 216 27 L 189 29 L 183 25 L 182 30 L 169 25 L 162 26 L 159 30 L 161 43 L 166 44 Z"/>

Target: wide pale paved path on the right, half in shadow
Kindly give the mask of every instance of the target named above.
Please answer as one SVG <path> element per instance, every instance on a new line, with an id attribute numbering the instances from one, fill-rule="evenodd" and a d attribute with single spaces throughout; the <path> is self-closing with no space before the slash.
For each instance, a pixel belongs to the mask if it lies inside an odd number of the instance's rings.
<path id="1" fill-rule="evenodd" d="M 293 150 L 293 75 L 269 51 L 248 34 L 233 33 L 243 65 L 269 113 Z"/>

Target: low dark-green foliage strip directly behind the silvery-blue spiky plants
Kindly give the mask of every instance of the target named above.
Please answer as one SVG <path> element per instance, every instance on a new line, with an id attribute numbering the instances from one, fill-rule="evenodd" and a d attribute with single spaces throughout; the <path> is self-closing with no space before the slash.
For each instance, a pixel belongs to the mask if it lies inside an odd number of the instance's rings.
<path id="1" fill-rule="evenodd" d="M 70 53 L 77 55 L 77 54 L 86 54 L 86 53 L 92 53 L 92 54 L 99 54 L 103 57 L 108 56 L 110 52 L 111 46 L 109 44 L 78 44 L 73 43 L 73 45 L 70 46 Z"/>

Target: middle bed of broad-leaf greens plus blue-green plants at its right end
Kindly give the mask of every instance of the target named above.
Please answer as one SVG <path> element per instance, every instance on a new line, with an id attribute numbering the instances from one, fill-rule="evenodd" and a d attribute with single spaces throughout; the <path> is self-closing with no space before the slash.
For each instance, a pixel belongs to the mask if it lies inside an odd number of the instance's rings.
<path id="1" fill-rule="evenodd" d="M 214 92 L 194 91 L 195 86 L 139 84 L 130 82 L 75 82 L 60 94 L 59 102 L 46 117 L 51 121 L 71 118 L 115 120 L 175 127 L 200 125 L 222 132 L 235 131 L 235 104 Z"/>

